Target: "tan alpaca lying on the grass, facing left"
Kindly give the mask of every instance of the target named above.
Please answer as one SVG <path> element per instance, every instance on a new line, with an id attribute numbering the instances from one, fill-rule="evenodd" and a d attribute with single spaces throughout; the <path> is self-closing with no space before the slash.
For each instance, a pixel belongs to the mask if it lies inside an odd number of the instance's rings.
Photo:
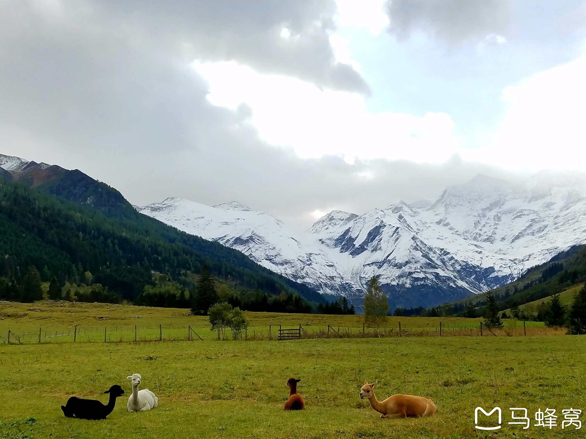
<path id="1" fill-rule="evenodd" d="M 423 396 L 393 395 L 384 401 L 379 401 L 376 399 L 373 389 L 377 382 L 369 384 L 365 380 L 359 396 L 360 399 L 368 398 L 370 406 L 381 413 L 381 418 L 411 418 L 434 415 L 435 404 Z"/>

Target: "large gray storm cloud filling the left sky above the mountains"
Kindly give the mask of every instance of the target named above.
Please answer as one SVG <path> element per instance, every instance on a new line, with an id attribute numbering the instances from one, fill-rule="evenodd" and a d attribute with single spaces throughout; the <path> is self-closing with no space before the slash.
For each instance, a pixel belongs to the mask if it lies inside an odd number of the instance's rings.
<path id="1" fill-rule="evenodd" d="M 80 169 L 134 204 L 239 200 L 300 228 L 315 209 L 362 213 L 496 172 L 458 160 L 303 160 L 266 145 L 245 123 L 246 108 L 207 101 L 207 84 L 190 63 L 237 60 L 367 93 L 363 78 L 333 56 L 332 2 L 162 4 L 4 2 L 0 152 Z M 280 36 L 284 27 L 291 44 Z"/>

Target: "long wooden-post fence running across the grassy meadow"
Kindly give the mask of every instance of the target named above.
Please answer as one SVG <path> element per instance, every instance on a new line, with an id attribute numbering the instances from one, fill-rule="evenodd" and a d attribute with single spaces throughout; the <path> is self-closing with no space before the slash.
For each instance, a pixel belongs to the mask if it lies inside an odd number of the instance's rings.
<path id="1" fill-rule="evenodd" d="M 209 328 L 193 328 L 191 325 L 70 325 L 67 328 L 39 327 L 38 330 L 18 331 L 16 328 L 0 330 L 0 344 L 43 344 L 43 343 L 79 343 L 79 342 L 156 342 L 156 341 L 203 341 L 216 340 Z M 382 338 L 382 337 L 523 337 L 531 335 L 563 335 L 564 328 L 548 328 L 517 322 L 503 328 L 489 328 L 479 322 L 471 324 L 450 324 L 439 326 L 408 328 L 398 322 L 396 327 L 369 328 L 325 327 L 270 324 L 267 326 L 248 326 L 238 339 L 244 341 L 287 341 L 295 339 L 318 338 Z M 203 335 L 203 337 L 202 337 Z M 222 339 L 232 339 L 222 338 Z"/>

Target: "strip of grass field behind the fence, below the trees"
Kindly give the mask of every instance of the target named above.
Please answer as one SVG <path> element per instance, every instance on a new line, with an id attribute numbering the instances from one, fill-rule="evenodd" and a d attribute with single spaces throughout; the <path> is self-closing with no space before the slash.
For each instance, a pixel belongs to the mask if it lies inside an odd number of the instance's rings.
<path id="1" fill-rule="evenodd" d="M 346 337 L 357 337 L 363 330 L 362 315 L 323 315 L 323 314 L 279 314 L 246 313 L 250 321 L 247 337 L 266 339 L 268 325 L 281 325 L 282 328 L 297 328 L 302 325 L 310 337 L 326 335 L 328 324 Z M 439 335 L 440 322 L 443 334 L 479 335 L 482 319 L 456 317 L 389 317 L 385 328 L 380 331 L 398 335 L 401 323 L 403 335 Z M 74 328 L 77 325 L 77 330 Z M 60 302 L 50 303 L 0 303 L 0 344 L 8 341 L 8 330 L 12 332 L 11 342 L 30 344 L 38 342 L 39 330 L 42 343 L 71 342 L 76 332 L 76 340 L 103 342 L 104 330 L 107 342 L 134 341 L 135 326 L 137 340 L 186 339 L 188 326 L 192 327 L 203 339 L 215 339 L 216 332 L 209 329 L 207 317 L 189 315 L 188 310 L 178 308 L 151 308 L 128 305 L 89 304 Z M 523 323 L 505 321 L 506 330 L 522 334 Z M 529 334 L 542 334 L 543 323 L 527 322 Z M 273 327 L 274 336 L 278 327 Z M 367 335 L 376 330 L 366 328 Z M 305 334 L 305 332 L 304 332 Z M 195 337 L 195 336 L 194 336 Z"/>

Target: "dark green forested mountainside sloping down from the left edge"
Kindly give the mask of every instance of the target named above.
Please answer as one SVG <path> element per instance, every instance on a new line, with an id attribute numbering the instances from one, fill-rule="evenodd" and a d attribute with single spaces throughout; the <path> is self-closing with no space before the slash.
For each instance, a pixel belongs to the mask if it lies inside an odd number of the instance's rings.
<path id="1" fill-rule="evenodd" d="M 76 173 L 69 175 L 76 177 Z M 23 283 L 29 267 L 36 267 L 43 280 L 55 277 L 63 284 L 87 272 L 94 283 L 134 300 L 145 286 L 154 284 L 152 271 L 179 280 L 186 272 L 199 273 L 207 265 L 213 276 L 240 289 L 269 295 L 285 291 L 321 301 L 314 290 L 264 269 L 240 252 L 138 214 L 105 184 L 90 179 L 96 184 L 89 181 L 85 190 L 77 191 L 74 182 L 87 182 L 86 177 L 72 180 L 69 189 L 63 180 L 36 186 L 81 205 L 25 187 L 24 181 L 0 179 L 0 256 L 4 256 L 0 277 Z M 94 205 L 101 211 L 83 202 L 91 191 L 106 193 L 103 205 Z"/>

